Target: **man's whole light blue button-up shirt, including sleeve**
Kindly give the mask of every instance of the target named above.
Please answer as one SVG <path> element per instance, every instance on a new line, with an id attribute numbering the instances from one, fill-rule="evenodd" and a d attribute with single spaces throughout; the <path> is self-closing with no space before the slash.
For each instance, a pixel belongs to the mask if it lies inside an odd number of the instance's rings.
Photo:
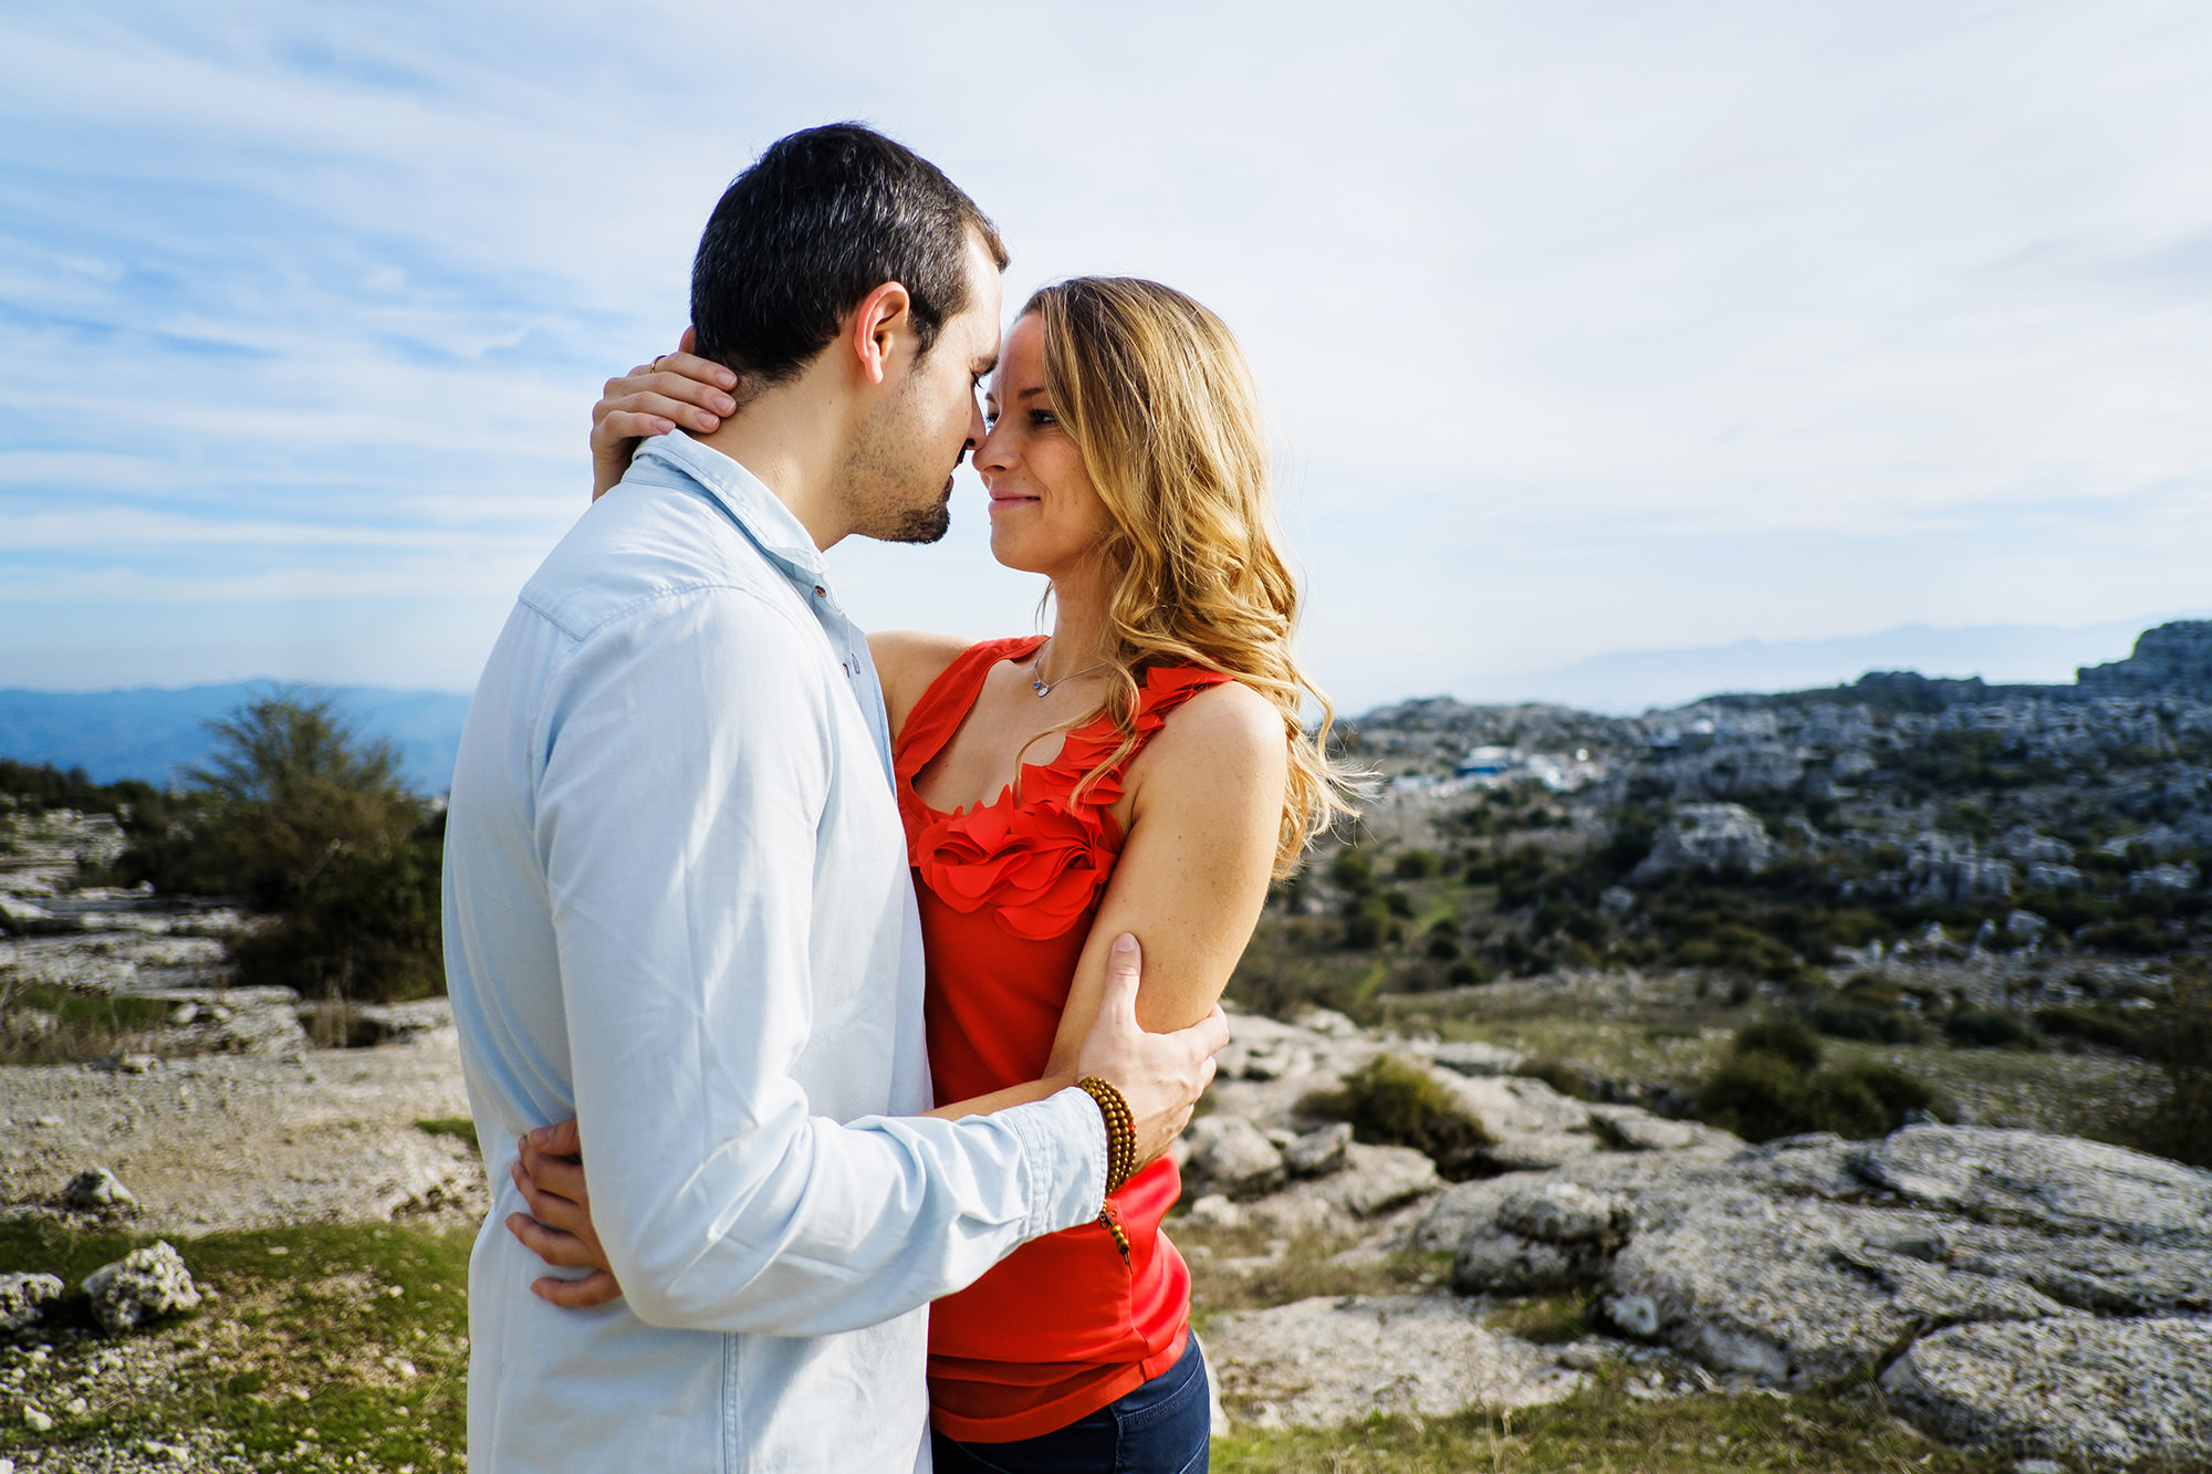
<path id="1" fill-rule="evenodd" d="M 927 1301 L 1099 1211 L 1082 1091 L 931 1107 L 922 941 L 867 640 L 799 520 L 648 440 L 524 587 L 469 708 L 445 961 L 491 1215 L 469 1467 L 927 1467 Z M 624 1299 L 504 1228 L 582 1120 Z"/>

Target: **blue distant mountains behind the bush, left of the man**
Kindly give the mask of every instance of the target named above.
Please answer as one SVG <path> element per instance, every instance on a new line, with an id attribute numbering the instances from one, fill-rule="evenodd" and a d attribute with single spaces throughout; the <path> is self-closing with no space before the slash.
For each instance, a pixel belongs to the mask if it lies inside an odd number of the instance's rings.
<path id="1" fill-rule="evenodd" d="M 281 691 L 276 682 L 184 686 L 161 691 L 4 691 L 0 688 L 0 757 L 20 764 L 84 768 L 95 783 L 179 781 L 208 759 L 208 724 L 246 702 Z M 453 783 L 460 724 L 469 697 L 451 691 L 385 691 L 380 686 L 314 688 L 336 699 L 361 733 L 392 741 L 400 775 L 418 792 Z"/>

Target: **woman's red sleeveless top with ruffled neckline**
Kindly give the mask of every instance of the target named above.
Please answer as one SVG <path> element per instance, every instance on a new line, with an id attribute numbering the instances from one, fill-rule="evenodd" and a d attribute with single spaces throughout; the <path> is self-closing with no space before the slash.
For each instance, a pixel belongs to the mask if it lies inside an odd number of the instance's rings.
<path id="1" fill-rule="evenodd" d="M 1042 637 L 987 640 L 956 657 L 898 733 L 898 812 L 922 907 L 929 972 L 929 1069 L 938 1104 L 1026 1084 L 1044 1073 L 1075 963 L 1121 854 L 1108 812 L 1121 768 L 1082 799 L 1075 786 L 1113 757 L 1106 715 L 1066 735 L 1048 764 L 1024 764 L 1020 797 L 940 814 L 914 777 L 975 706 L 984 675 L 1026 660 Z M 1137 741 L 1199 691 L 1230 679 L 1190 666 L 1139 682 Z M 1130 752 L 1135 757 L 1135 750 Z M 1159 1377 L 1190 1335 L 1190 1270 L 1159 1231 L 1181 1195 L 1161 1158 L 1110 1200 L 1128 1262 L 1102 1224 L 1033 1239 L 929 1308 L 929 1403 L 940 1432 L 1011 1443 L 1064 1428 Z"/>

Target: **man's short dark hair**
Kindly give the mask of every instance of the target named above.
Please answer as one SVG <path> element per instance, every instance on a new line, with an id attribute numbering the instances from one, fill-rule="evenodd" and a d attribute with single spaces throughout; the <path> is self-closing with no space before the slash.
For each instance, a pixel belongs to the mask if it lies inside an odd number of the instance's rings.
<path id="1" fill-rule="evenodd" d="M 792 378 L 885 281 L 907 288 L 922 352 L 969 305 L 967 243 L 1006 246 L 958 184 L 860 124 L 768 146 L 721 195 L 692 263 L 699 354 L 743 387 Z"/>

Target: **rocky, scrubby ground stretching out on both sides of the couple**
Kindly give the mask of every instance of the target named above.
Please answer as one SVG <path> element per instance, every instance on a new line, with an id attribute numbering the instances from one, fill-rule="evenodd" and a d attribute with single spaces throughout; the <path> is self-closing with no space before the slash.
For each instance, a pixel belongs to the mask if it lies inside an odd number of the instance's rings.
<path id="1" fill-rule="evenodd" d="M 1177 1144 L 1223 1447 L 1776 1399 L 1938 1467 L 2212 1467 L 2212 626 L 1354 746 L 1387 788 L 1270 899 Z M 0 1474 L 458 1467 L 442 1003 L 239 987 L 270 921 L 126 843 L 0 801 Z"/>

